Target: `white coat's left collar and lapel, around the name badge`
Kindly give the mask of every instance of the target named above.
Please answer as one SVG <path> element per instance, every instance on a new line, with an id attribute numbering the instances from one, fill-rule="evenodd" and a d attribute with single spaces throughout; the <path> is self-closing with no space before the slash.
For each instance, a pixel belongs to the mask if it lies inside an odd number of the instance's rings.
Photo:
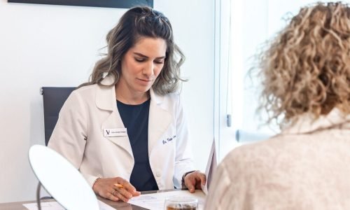
<path id="1" fill-rule="evenodd" d="M 110 85 L 113 82 L 111 76 L 107 76 L 102 80 L 102 84 Z M 116 129 L 125 127 L 122 118 L 117 109 L 116 92 L 114 85 L 112 86 L 102 86 L 99 85 L 96 93 L 96 105 L 99 109 L 104 109 L 109 111 L 109 116 L 103 121 L 101 132 L 104 135 L 104 129 Z M 129 137 L 105 137 L 109 139 L 114 144 L 125 149 L 132 157 L 132 148 L 130 145 Z"/>

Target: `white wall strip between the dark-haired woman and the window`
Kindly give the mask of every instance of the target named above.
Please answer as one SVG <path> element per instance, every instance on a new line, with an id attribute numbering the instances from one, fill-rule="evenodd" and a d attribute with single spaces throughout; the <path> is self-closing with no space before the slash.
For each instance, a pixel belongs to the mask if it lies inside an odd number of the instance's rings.
<path id="1" fill-rule="evenodd" d="M 155 0 L 172 22 L 176 43 L 186 55 L 182 95 L 193 139 L 195 165 L 205 171 L 214 138 L 214 1 Z"/>

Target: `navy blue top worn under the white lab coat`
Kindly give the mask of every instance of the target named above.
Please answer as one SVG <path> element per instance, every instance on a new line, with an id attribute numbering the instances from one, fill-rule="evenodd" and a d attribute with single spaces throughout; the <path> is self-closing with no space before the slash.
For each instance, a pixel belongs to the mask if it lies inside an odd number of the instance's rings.
<path id="1" fill-rule="evenodd" d="M 130 183 L 138 191 L 158 190 L 148 158 L 148 114 L 151 99 L 143 104 L 129 105 L 117 100 L 117 107 L 132 146 L 135 165 Z"/>

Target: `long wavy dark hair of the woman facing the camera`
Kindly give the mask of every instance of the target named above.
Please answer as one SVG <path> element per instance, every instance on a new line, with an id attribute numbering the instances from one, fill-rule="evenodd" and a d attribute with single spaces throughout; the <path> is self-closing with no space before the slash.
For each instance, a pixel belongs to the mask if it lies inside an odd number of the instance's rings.
<path id="1" fill-rule="evenodd" d="M 120 18 L 118 25 L 107 34 L 108 52 L 94 66 L 94 70 L 85 85 L 101 84 L 102 79 L 107 74 L 112 74 L 116 85 L 120 78 L 121 61 L 130 48 L 141 37 L 162 38 L 167 43 L 165 63 L 160 75 L 153 83 L 153 90 L 158 94 L 168 94 L 175 92 L 179 83 L 183 81 L 180 77 L 180 66 L 185 60 L 183 52 L 174 43 L 172 25 L 168 18 L 153 8 L 142 6 L 134 7 Z"/>

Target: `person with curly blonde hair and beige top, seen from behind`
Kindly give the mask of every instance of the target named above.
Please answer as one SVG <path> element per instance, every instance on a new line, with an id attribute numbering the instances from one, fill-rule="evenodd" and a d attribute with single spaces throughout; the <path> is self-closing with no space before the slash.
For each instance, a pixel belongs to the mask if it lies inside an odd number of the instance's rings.
<path id="1" fill-rule="evenodd" d="M 350 8 L 304 7 L 260 55 L 281 134 L 232 151 L 206 209 L 350 209 Z"/>

